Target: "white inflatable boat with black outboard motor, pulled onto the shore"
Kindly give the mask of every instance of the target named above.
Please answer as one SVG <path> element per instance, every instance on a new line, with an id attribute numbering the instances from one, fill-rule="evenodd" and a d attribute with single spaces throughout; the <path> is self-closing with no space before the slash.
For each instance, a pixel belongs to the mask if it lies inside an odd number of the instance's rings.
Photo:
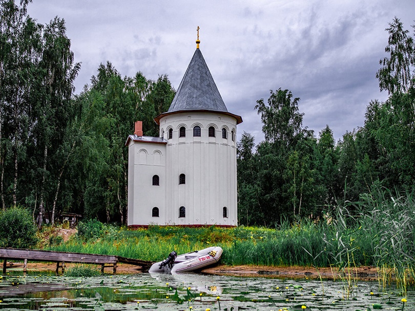
<path id="1" fill-rule="evenodd" d="M 177 256 L 176 252 L 171 252 L 164 261 L 153 263 L 149 272 L 179 273 L 195 271 L 205 266 L 219 261 L 223 250 L 218 247 L 208 247 L 200 251 L 194 251 Z"/>

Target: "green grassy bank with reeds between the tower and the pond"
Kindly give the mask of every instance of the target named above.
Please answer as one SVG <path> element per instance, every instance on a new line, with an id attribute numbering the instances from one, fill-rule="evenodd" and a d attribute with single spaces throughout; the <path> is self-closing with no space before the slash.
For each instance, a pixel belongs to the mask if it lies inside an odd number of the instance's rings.
<path id="1" fill-rule="evenodd" d="M 415 282 L 415 203 L 412 195 L 367 196 L 339 208 L 318 223 L 300 219 L 279 229 L 259 227 L 180 228 L 150 226 L 129 230 L 97 221 L 82 224 L 77 237 L 45 247 L 56 251 L 116 254 L 159 261 L 212 245 L 223 248 L 228 265 L 333 266 L 379 268 L 382 281 L 392 274 L 399 286 Z M 354 213 L 351 215 L 350 210 Z M 365 211 L 365 212 L 364 212 Z M 392 272 L 390 272 L 392 271 Z"/>

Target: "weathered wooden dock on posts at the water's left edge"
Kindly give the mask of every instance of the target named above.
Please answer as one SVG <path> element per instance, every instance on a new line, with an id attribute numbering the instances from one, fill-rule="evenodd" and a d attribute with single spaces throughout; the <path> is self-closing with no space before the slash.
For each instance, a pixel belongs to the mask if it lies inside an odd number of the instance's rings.
<path id="1" fill-rule="evenodd" d="M 70 252 L 54 252 L 54 251 L 40 251 L 27 249 L 11 249 L 0 248 L 0 259 L 3 259 L 3 274 L 6 274 L 7 260 L 23 260 L 23 271 L 27 271 L 27 261 L 43 261 L 56 262 L 56 274 L 61 268 L 62 273 L 65 272 L 65 263 L 90 263 L 100 264 L 101 273 L 105 267 L 112 267 L 113 274 L 117 272 L 117 263 L 128 263 L 140 266 L 140 270 L 147 272 L 152 265 L 151 261 L 138 260 L 133 258 L 125 258 L 115 255 L 97 255 L 97 254 L 83 254 Z"/>

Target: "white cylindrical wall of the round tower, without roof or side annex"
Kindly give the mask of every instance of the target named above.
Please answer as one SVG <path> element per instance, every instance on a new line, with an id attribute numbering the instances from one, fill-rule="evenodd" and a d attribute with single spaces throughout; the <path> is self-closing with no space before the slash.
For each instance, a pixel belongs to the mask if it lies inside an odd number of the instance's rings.
<path id="1" fill-rule="evenodd" d="M 195 126 L 200 126 L 200 137 L 193 135 Z M 215 137 L 209 137 L 211 126 Z M 185 127 L 185 137 L 179 137 L 180 127 Z M 165 224 L 236 226 L 236 119 L 214 112 L 166 115 L 160 119 L 160 135 L 167 141 Z M 180 174 L 185 174 L 185 184 L 179 184 Z M 185 217 L 180 217 L 180 207 Z"/>

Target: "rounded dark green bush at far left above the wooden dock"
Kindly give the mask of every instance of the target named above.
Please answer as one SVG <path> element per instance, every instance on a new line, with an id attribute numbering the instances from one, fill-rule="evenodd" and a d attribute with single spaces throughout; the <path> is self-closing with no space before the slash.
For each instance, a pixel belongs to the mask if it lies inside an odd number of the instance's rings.
<path id="1" fill-rule="evenodd" d="M 0 246 L 31 248 L 36 245 L 36 227 L 31 213 L 22 207 L 0 212 Z"/>

